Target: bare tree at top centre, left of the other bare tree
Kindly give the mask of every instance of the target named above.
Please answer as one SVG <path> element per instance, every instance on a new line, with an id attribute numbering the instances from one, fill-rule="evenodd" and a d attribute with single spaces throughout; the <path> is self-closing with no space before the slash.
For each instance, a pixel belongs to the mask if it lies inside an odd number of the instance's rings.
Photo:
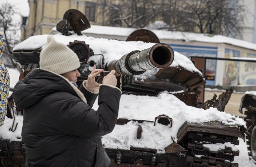
<path id="1" fill-rule="evenodd" d="M 105 25 L 136 28 L 145 27 L 170 10 L 162 1 L 155 0 L 123 0 L 119 5 L 111 4 L 111 0 L 102 0 L 101 7 L 102 15 L 107 13 L 109 16 Z"/>

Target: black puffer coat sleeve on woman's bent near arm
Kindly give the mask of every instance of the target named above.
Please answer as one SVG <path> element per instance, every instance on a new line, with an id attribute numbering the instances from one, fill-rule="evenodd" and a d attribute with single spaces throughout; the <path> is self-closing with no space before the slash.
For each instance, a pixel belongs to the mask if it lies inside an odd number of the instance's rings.
<path id="1" fill-rule="evenodd" d="M 75 96 L 63 97 L 58 111 L 59 130 L 88 138 L 110 133 L 117 122 L 120 97 L 117 88 L 100 86 L 97 111 Z"/>

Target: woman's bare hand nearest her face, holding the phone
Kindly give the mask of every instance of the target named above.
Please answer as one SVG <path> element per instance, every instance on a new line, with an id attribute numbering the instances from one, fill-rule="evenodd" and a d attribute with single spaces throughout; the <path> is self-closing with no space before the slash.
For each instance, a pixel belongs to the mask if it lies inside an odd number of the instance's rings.
<path id="1" fill-rule="evenodd" d="M 98 84 L 95 81 L 95 77 L 99 75 L 103 69 L 96 69 L 96 65 L 94 65 L 94 70 L 91 71 L 91 73 L 88 75 L 87 83 L 86 83 L 86 89 L 88 91 L 93 91 L 95 88 L 99 87 L 100 84 Z"/>

